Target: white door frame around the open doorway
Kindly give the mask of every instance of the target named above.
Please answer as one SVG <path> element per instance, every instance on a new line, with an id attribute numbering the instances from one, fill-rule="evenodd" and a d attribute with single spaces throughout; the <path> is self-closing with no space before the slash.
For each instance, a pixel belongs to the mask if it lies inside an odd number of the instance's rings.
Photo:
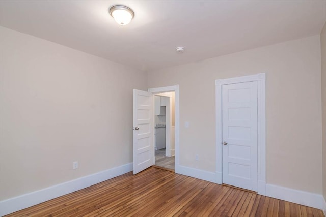
<path id="1" fill-rule="evenodd" d="M 157 88 L 148 88 L 148 92 L 151 92 L 152 94 L 159 94 L 162 92 L 175 92 L 175 166 L 174 171 L 175 173 L 179 172 L 179 85 L 174 86 L 166 86 L 166 87 L 157 87 Z M 154 115 L 154 114 L 153 114 Z M 154 118 L 154 117 L 153 117 Z M 153 131 L 154 134 L 154 131 Z M 154 137 L 154 135 L 153 135 Z M 155 152 L 154 152 L 154 146 L 153 146 L 153 154 L 154 154 L 154 161 L 155 161 Z M 154 162 L 153 162 L 154 164 Z"/>

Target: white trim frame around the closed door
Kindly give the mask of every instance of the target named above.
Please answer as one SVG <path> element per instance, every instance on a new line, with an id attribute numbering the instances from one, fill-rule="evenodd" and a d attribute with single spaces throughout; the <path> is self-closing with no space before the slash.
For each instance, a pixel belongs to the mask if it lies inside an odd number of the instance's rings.
<path id="1" fill-rule="evenodd" d="M 258 194 L 266 195 L 266 74 L 215 80 L 216 180 L 222 184 L 222 85 L 257 81 L 258 90 Z"/>

